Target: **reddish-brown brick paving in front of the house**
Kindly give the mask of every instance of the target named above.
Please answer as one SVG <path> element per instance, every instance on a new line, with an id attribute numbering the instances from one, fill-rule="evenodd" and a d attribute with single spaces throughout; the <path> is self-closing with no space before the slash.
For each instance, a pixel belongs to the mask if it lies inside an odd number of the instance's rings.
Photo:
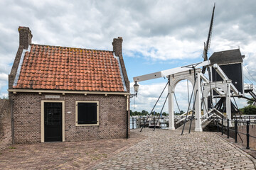
<path id="1" fill-rule="evenodd" d="M 12 145 L 0 151 L 0 169 L 90 169 L 145 138 Z"/>

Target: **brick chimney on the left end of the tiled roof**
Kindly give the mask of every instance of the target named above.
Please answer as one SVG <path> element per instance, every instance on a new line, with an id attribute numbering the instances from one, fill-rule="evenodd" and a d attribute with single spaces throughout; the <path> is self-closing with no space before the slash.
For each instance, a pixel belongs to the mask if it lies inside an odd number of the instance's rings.
<path id="1" fill-rule="evenodd" d="M 31 34 L 31 30 L 28 27 L 18 27 L 19 33 L 19 45 L 23 46 L 23 49 L 28 50 L 28 45 L 31 44 L 31 40 L 33 35 Z"/>

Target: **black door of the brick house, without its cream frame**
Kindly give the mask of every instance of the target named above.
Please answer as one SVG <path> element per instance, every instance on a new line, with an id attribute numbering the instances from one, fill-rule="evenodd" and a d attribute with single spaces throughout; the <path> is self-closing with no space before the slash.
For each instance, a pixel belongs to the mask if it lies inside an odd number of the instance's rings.
<path id="1" fill-rule="evenodd" d="M 45 142 L 62 141 L 62 103 L 44 103 Z"/>

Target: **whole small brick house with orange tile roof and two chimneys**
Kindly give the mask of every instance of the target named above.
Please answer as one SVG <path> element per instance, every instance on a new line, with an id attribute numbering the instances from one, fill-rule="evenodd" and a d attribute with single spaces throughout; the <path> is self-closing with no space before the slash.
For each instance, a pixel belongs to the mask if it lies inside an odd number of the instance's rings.
<path id="1" fill-rule="evenodd" d="M 19 27 L 9 74 L 15 143 L 129 136 L 129 79 L 122 38 L 113 51 L 32 44 Z"/>

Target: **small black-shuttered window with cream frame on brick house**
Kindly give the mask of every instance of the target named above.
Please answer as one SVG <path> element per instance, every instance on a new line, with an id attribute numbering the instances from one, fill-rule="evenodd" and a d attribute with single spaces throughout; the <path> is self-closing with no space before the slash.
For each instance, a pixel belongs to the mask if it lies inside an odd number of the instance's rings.
<path id="1" fill-rule="evenodd" d="M 75 125 L 99 125 L 99 102 L 76 101 Z"/>

